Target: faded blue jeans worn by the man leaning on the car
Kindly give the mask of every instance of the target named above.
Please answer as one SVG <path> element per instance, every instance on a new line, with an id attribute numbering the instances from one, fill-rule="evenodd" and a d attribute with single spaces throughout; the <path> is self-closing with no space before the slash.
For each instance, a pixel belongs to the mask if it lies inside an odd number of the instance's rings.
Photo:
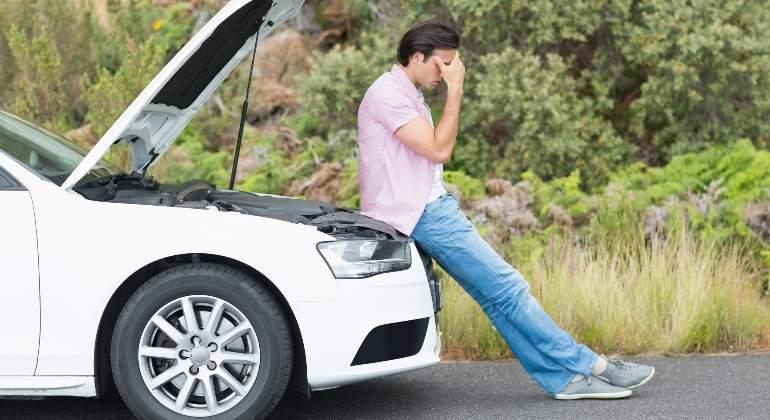
<path id="1" fill-rule="evenodd" d="M 479 303 L 546 392 L 558 393 L 575 374 L 591 374 L 596 353 L 553 322 L 527 281 L 479 235 L 453 195 L 426 205 L 412 238 Z"/>

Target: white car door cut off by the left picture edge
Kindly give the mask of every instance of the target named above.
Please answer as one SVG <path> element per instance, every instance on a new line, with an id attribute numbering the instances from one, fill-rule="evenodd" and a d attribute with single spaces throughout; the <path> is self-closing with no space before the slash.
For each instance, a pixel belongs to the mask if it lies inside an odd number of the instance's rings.
<path id="1" fill-rule="evenodd" d="M 40 334 L 37 231 L 29 191 L 0 167 L 0 375 L 33 375 Z"/>

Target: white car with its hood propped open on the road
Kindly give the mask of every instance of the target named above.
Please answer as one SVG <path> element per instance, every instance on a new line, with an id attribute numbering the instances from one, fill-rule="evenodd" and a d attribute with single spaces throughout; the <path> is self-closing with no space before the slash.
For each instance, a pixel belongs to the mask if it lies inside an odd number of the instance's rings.
<path id="1" fill-rule="evenodd" d="M 0 395 L 102 396 L 140 418 L 264 417 L 434 365 L 440 285 L 390 225 L 317 201 L 145 176 L 301 0 L 228 3 L 88 152 L 0 112 Z M 133 151 L 133 170 L 103 161 Z"/>

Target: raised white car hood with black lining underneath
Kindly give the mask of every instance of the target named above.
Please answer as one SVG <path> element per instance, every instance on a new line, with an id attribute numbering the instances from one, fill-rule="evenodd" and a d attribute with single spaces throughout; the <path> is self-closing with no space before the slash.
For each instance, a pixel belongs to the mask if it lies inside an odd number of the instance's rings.
<path id="1" fill-rule="evenodd" d="M 132 149 L 143 173 L 169 148 L 254 43 L 293 17 L 304 0 L 233 0 L 166 64 L 62 184 L 71 189 L 113 144 Z"/>

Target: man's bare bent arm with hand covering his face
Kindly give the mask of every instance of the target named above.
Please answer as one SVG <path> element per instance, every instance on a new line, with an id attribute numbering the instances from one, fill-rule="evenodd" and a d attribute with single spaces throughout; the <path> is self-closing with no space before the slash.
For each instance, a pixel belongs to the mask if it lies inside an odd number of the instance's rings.
<path id="1" fill-rule="evenodd" d="M 463 79 L 465 66 L 456 53 L 447 66 L 437 56 L 432 59 L 441 69 L 441 76 L 447 84 L 447 100 L 441 120 L 434 129 L 422 117 L 401 126 L 396 130 L 396 137 L 415 152 L 435 163 L 446 163 L 452 156 L 460 123 L 460 102 L 463 97 Z"/>

